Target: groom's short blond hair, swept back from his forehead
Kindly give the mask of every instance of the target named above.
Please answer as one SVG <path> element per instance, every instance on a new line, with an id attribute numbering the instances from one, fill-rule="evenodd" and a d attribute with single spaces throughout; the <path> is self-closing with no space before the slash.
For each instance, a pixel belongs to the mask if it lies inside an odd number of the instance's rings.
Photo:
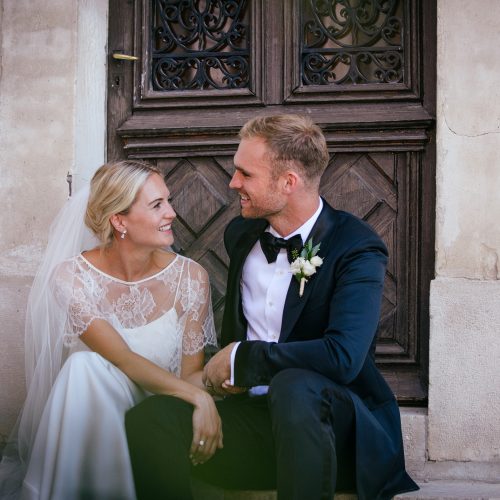
<path id="1" fill-rule="evenodd" d="M 310 186 L 317 188 L 329 154 L 321 129 L 300 115 L 258 116 L 240 130 L 241 139 L 260 137 L 266 141 L 275 177 L 295 169 Z"/>

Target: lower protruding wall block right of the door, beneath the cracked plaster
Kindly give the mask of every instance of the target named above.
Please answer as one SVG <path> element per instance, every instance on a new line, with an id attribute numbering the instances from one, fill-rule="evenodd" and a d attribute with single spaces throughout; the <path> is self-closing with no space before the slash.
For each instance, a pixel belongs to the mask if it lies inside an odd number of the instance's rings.
<path id="1" fill-rule="evenodd" d="M 431 291 L 428 451 L 498 462 L 500 282 L 440 278 Z"/>

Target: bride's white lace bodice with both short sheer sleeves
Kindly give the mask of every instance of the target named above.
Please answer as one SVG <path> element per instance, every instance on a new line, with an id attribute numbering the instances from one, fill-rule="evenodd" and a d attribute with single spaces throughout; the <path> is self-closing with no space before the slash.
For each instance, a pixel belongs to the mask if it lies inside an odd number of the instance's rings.
<path id="1" fill-rule="evenodd" d="M 216 345 L 208 275 L 180 255 L 135 282 L 109 276 L 78 255 L 57 269 L 54 293 L 68 311 L 63 333 L 68 354 L 85 349 L 79 336 L 95 319 L 106 320 L 133 351 L 178 376 L 182 354 Z"/>

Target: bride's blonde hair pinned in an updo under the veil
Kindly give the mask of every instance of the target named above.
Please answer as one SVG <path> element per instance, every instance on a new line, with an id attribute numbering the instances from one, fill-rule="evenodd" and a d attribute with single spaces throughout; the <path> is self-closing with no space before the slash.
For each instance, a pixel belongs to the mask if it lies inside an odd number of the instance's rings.
<path id="1" fill-rule="evenodd" d="M 99 238 L 101 245 L 111 245 L 114 227 L 110 217 L 127 214 L 138 192 L 153 174 L 161 172 L 148 163 L 123 160 L 100 167 L 90 182 L 85 224 Z"/>

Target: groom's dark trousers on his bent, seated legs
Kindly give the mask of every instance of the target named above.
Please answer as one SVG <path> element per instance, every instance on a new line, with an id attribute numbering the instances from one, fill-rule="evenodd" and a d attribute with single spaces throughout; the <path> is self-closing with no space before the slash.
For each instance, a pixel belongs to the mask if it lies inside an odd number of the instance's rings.
<path id="1" fill-rule="evenodd" d="M 287 369 L 267 396 L 217 402 L 224 447 L 193 467 L 192 406 L 152 396 L 125 418 L 139 500 L 191 500 L 191 474 L 228 489 L 273 489 L 280 500 L 328 499 L 354 488 L 354 409 L 345 388 Z"/>

